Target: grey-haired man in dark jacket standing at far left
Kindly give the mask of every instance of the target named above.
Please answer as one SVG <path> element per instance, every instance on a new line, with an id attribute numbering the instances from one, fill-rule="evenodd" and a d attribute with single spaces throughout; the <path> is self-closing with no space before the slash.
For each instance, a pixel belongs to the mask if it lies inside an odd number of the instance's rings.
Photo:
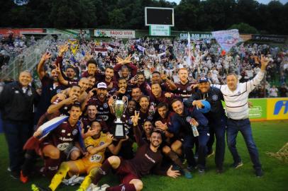
<path id="1" fill-rule="evenodd" d="M 23 164 L 23 145 L 33 133 L 33 108 L 38 94 L 29 83 L 32 76 L 22 71 L 18 81 L 6 84 L 0 94 L 4 134 L 9 147 L 11 176 L 18 178 Z"/>

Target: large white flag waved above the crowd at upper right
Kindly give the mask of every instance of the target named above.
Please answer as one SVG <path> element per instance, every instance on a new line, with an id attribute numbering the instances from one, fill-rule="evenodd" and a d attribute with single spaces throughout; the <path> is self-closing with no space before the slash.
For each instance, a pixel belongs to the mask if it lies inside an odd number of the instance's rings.
<path id="1" fill-rule="evenodd" d="M 212 32 L 212 36 L 216 39 L 223 50 L 229 52 L 231 47 L 235 46 L 239 40 L 239 32 L 237 29 L 233 30 L 219 30 Z"/>

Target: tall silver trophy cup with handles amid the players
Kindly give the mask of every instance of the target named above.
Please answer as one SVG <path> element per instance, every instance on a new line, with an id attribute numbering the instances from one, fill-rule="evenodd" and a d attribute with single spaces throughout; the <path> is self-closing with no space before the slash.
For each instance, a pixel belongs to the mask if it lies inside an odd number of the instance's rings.
<path id="1" fill-rule="evenodd" d="M 114 121 L 116 127 L 114 132 L 114 137 L 116 139 L 124 139 L 126 138 L 125 129 L 124 129 L 124 122 L 121 121 L 121 117 L 123 113 L 126 111 L 127 102 L 124 100 L 118 100 L 117 96 L 113 96 L 113 105 L 112 110 L 116 116 L 116 121 Z"/>

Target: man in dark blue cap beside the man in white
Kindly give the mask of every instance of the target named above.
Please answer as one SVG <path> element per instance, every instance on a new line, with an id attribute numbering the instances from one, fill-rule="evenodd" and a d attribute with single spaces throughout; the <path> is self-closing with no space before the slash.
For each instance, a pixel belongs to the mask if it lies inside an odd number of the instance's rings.
<path id="1" fill-rule="evenodd" d="M 223 109 L 221 100 L 223 100 L 223 94 L 218 88 L 210 87 L 209 79 L 201 77 L 198 83 L 198 90 L 193 93 L 192 96 L 184 101 L 184 105 L 187 107 L 203 108 L 204 104 L 201 100 L 206 100 L 211 105 L 211 110 L 204 113 L 204 116 L 209 121 L 209 133 L 210 138 L 207 143 L 208 152 L 212 154 L 212 146 L 214 144 L 214 134 L 216 136 L 216 155 L 215 163 L 217 173 L 223 172 L 223 161 L 225 154 L 225 132 L 226 132 L 226 115 Z"/>

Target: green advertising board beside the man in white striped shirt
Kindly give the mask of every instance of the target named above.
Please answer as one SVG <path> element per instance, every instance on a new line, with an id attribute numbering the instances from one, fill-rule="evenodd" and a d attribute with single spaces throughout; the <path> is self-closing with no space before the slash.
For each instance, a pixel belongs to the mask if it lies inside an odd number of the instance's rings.
<path id="1" fill-rule="evenodd" d="M 267 99 L 249 99 L 249 101 L 253 104 L 253 107 L 249 108 L 250 120 L 266 120 Z"/>

